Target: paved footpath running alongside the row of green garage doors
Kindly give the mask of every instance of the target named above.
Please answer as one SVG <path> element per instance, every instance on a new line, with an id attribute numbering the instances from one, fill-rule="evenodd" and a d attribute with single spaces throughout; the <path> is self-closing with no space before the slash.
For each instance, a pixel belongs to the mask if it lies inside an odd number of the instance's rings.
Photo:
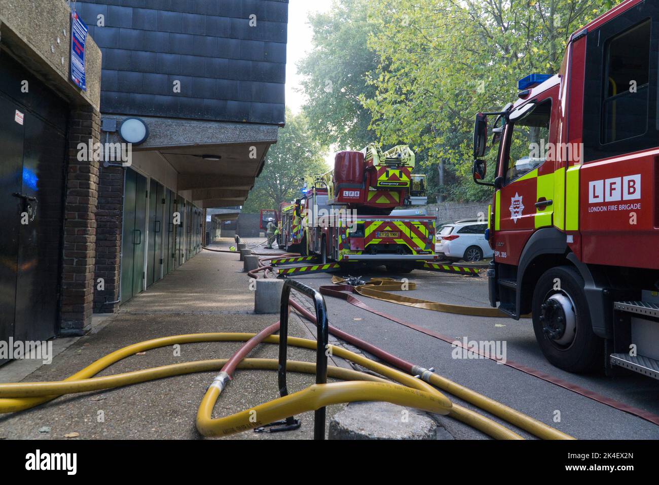
<path id="1" fill-rule="evenodd" d="M 227 249 L 233 240 L 223 240 L 217 248 Z M 279 315 L 256 315 L 254 294 L 236 254 L 202 251 L 177 271 L 167 275 L 146 292 L 121 306 L 112 315 L 55 356 L 53 363 L 41 366 L 24 381 L 50 381 L 68 377 L 94 360 L 127 344 L 167 335 L 202 332 L 256 333 L 279 319 Z M 289 335 L 314 338 L 299 319 L 291 319 Z M 71 343 L 71 340 L 72 343 Z M 240 342 L 185 344 L 181 356 L 173 348 L 149 350 L 130 356 L 99 375 L 129 372 L 212 358 L 228 358 Z M 277 347 L 265 344 L 251 356 L 276 358 Z M 315 362 L 309 350 L 289 348 L 289 358 Z M 0 367 L 0 381 L 17 379 L 21 364 Z M 60 397 L 31 410 L 0 416 L 0 439 L 194 439 L 201 436 L 194 426 L 198 405 L 217 372 L 204 372 L 150 381 L 94 393 Z M 313 375 L 290 373 L 289 392 L 314 382 Z M 227 416 L 278 397 L 277 374 L 272 371 L 241 371 L 215 405 L 215 417 Z M 328 416 L 341 406 L 331 406 Z M 103 420 L 100 420 L 100 418 Z M 302 428 L 294 432 L 256 434 L 244 432 L 234 439 L 311 439 L 313 413 L 298 416 Z"/>

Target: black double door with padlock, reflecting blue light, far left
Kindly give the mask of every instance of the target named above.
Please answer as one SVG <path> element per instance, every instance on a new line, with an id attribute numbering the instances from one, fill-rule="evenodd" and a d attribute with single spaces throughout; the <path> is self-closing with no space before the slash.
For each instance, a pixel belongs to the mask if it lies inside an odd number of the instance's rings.
<path id="1" fill-rule="evenodd" d="M 57 333 L 69 106 L 0 51 L 0 339 Z M 0 361 L 2 363 L 2 361 Z"/>

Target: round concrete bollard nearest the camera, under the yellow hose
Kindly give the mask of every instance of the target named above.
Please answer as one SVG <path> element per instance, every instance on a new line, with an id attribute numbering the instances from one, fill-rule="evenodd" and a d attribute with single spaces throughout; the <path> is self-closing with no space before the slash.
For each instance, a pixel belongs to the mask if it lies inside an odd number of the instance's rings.
<path id="1" fill-rule="evenodd" d="M 329 439 L 453 439 L 426 412 L 391 403 L 350 403 L 329 421 Z"/>

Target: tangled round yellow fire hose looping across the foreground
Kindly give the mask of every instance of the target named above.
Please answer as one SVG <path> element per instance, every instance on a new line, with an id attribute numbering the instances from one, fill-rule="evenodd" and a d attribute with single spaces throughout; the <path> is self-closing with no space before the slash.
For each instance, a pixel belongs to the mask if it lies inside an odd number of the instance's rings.
<path id="1" fill-rule="evenodd" d="M 45 382 L 45 383 L 2 383 L 0 384 L 0 413 L 15 412 L 37 406 L 38 404 L 51 401 L 59 395 L 67 393 L 78 393 L 95 391 L 100 389 L 110 389 L 121 385 L 150 381 L 172 375 L 182 375 L 192 372 L 206 372 L 221 368 L 226 360 L 204 360 L 198 362 L 186 362 L 184 364 L 173 364 L 159 368 L 134 371 L 129 373 L 109 375 L 104 377 L 94 377 L 96 373 L 107 368 L 115 362 L 153 348 L 169 346 L 173 344 L 193 343 L 193 342 L 240 342 L 254 337 L 249 333 L 200 333 L 189 335 L 177 335 L 173 337 L 162 337 L 159 339 L 146 340 L 136 344 L 111 352 L 90 364 L 86 368 L 71 375 L 64 381 Z M 299 346 L 302 348 L 315 349 L 314 340 L 299 339 L 289 337 L 289 345 Z M 278 343 L 279 336 L 273 335 L 264 340 L 267 343 Z M 214 419 L 211 416 L 215 401 L 219 395 L 219 389 L 211 386 L 202 403 L 197 416 L 197 427 L 205 436 L 222 436 L 235 432 L 244 431 L 250 428 L 256 428 L 262 423 L 270 422 L 299 414 L 308 410 L 326 406 L 328 404 L 343 403 L 350 401 L 389 401 L 396 404 L 413 406 L 438 414 L 449 414 L 469 426 L 488 434 L 497 439 L 521 439 L 521 436 L 508 430 L 501 424 L 481 416 L 472 410 L 451 404 L 442 393 L 437 389 L 411 375 L 399 370 L 389 368 L 383 364 L 374 362 L 368 358 L 350 352 L 340 347 L 330 346 L 332 355 L 339 356 L 364 366 L 380 375 L 389 377 L 401 383 L 396 385 L 389 383 L 379 377 L 374 377 L 366 373 L 343 370 L 330 367 L 328 370 L 330 377 L 339 379 L 357 379 L 361 382 L 353 383 L 332 383 L 323 385 L 312 385 L 303 391 L 293 393 L 287 397 L 275 399 L 270 403 L 261 404 L 250 410 L 245 410 L 232 416 Z M 315 373 L 315 364 L 304 362 L 289 362 L 290 370 L 293 372 Z M 241 362 L 239 368 L 252 369 L 271 369 L 276 370 L 277 360 L 270 359 L 246 359 Z M 448 379 L 437 375 L 435 379 L 438 384 L 444 387 L 455 387 L 457 395 L 466 400 L 472 399 L 473 404 L 480 404 L 485 409 L 492 406 L 501 406 L 498 416 L 507 416 L 509 422 L 518 424 L 538 437 L 549 439 L 571 439 L 570 436 L 547 426 L 546 424 L 532 420 L 529 416 L 519 413 L 507 406 L 496 403 L 484 396 L 475 393 L 469 389 L 463 388 Z M 432 377 L 430 379 L 433 380 Z M 447 384 L 448 383 L 448 384 Z M 375 384 L 375 385 L 374 385 Z M 493 404 L 494 403 L 494 404 Z M 256 413 L 256 414 L 254 414 Z M 529 421 L 533 426 L 529 426 Z M 522 426 L 523 425 L 523 426 Z"/>

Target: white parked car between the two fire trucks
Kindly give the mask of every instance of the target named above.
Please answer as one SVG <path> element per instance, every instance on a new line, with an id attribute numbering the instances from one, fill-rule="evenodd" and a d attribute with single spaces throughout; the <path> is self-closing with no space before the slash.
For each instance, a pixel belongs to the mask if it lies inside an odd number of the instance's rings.
<path id="1" fill-rule="evenodd" d="M 451 261 L 480 261 L 494 252 L 485 239 L 484 222 L 455 222 L 442 226 L 437 234 L 435 252 Z"/>

